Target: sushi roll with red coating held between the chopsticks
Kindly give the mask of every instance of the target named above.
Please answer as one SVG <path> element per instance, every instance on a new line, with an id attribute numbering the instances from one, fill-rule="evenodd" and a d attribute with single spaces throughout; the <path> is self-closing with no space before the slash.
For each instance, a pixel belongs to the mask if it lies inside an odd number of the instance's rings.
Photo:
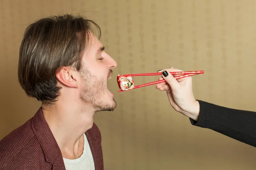
<path id="1" fill-rule="evenodd" d="M 134 88 L 134 81 L 132 80 L 131 76 L 117 76 L 117 83 L 121 90 L 128 91 Z"/>

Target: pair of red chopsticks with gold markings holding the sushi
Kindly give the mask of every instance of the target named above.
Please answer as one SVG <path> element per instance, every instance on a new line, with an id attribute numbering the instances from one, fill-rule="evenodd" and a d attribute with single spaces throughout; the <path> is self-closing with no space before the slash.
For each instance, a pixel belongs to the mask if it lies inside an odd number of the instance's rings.
<path id="1" fill-rule="evenodd" d="M 184 78 L 184 77 L 194 76 L 197 74 L 204 74 L 204 71 L 180 71 L 180 72 L 170 72 L 170 74 L 181 75 L 181 76 L 175 77 L 175 79 L 180 79 L 180 78 Z M 162 73 L 126 74 L 126 75 L 120 75 L 120 76 L 156 76 L 156 75 L 162 75 Z M 165 80 L 163 79 L 163 80 L 159 80 L 159 81 L 155 81 L 155 82 L 149 82 L 149 83 L 146 83 L 143 85 L 137 85 L 137 86 L 134 86 L 134 88 L 141 88 L 141 87 L 145 87 L 148 85 L 155 85 L 155 84 L 158 84 L 161 82 L 165 82 Z M 132 88 L 132 89 L 134 89 L 134 88 Z M 121 92 L 121 91 L 123 91 L 123 90 L 119 90 L 118 92 Z"/>

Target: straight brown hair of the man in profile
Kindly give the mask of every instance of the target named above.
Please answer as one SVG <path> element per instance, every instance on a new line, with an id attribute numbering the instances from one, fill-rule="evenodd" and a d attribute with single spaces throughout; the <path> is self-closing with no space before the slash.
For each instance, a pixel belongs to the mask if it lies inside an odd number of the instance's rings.
<path id="1" fill-rule="evenodd" d="M 52 16 L 35 21 L 24 33 L 20 45 L 18 79 L 30 97 L 52 104 L 59 96 L 56 71 L 73 66 L 80 71 L 81 57 L 88 45 L 92 20 L 70 14 Z"/>

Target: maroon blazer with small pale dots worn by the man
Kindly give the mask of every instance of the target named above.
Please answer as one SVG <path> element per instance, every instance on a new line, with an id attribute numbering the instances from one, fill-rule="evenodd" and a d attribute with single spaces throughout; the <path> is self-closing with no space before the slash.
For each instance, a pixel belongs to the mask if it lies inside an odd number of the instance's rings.
<path id="1" fill-rule="evenodd" d="M 95 170 L 103 170 L 101 133 L 93 127 L 87 136 Z M 61 150 L 39 108 L 35 116 L 0 141 L 0 170 L 65 170 Z"/>

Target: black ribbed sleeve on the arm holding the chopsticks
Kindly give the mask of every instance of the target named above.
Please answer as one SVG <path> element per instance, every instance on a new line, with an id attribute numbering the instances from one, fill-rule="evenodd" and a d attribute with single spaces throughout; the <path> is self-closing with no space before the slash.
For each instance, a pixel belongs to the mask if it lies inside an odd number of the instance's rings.
<path id="1" fill-rule="evenodd" d="M 242 111 L 198 100 L 198 122 L 192 125 L 212 129 L 233 139 L 256 147 L 256 112 Z"/>

